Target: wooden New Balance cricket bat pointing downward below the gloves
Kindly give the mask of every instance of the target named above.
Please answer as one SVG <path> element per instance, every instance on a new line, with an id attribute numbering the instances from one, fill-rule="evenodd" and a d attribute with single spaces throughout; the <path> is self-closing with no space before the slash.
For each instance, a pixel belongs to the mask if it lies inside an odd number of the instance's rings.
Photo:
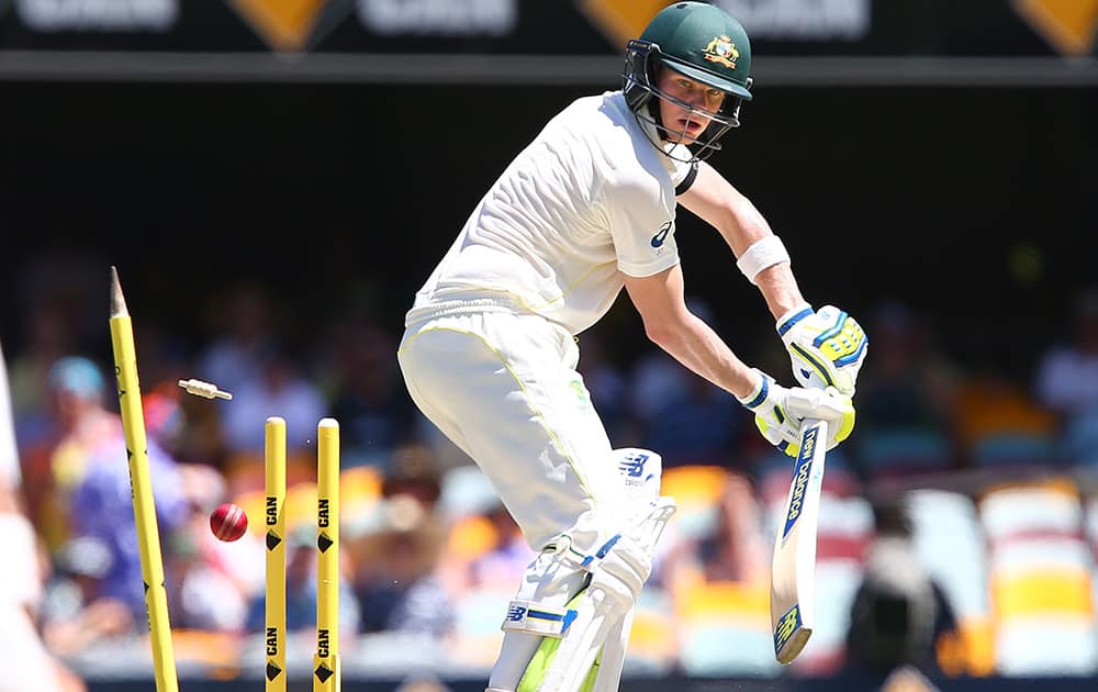
<path id="1" fill-rule="evenodd" d="M 774 542 L 770 624 L 774 630 L 774 657 L 780 663 L 792 663 L 813 634 L 816 522 L 827 437 L 827 421 L 806 420 L 802 424 L 800 451 Z"/>

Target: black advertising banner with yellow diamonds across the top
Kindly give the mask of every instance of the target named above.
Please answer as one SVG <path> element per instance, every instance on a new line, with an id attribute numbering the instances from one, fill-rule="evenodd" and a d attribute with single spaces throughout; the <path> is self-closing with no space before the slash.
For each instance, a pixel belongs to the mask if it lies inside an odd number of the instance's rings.
<path id="1" fill-rule="evenodd" d="M 755 53 L 1093 55 L 1098 0 L 714 0 Z M 0 0 L 11 51 L 592 56 L 664 0 Z"/>

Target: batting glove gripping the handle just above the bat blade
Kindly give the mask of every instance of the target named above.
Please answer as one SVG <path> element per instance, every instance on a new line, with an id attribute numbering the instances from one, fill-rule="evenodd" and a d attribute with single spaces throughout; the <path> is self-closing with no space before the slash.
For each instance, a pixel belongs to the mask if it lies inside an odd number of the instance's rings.
<path id="1" fill-rule="evenodd" d="M 800 423 L 805 418 L 828 422 L 828 449 L 847 439 L 854 429 L 854 404 L 834 387 L 785 388 L 769 375 L 758 369 L 755 372 L 759 383 L 754 391 L 738 401 L 755 414 L 755 426 L 762 436 L 791 457 L 800 451 Z"/>

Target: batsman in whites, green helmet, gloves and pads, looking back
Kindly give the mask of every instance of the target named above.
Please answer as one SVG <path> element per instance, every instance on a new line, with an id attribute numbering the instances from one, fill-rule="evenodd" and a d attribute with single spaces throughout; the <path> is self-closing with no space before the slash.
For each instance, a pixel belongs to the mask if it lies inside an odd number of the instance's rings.
<path id="1" fill-rule="evenodd" d="M 702 2 L 659 12 L 628 44 L 621 89 L 552 118 L 473 209 L 415 295 L 397 354 L 423 413 L 492 482 L 538 557 L 501 603 L 489 692 L 618 689 L 634 605 L 674 502 L 660 457 L 615 450 L 576 335 L 625 287 L 647 336 L 755 414 L 796 454 L 800 422 L 854 424 L 858 322 L 802 297 L 785 245 L 705 161 L 751 100 L 743 27 Z M 675 214 L 710 224 L 757 286 L 799 386 L 741 361 L 684 300 Z"/>

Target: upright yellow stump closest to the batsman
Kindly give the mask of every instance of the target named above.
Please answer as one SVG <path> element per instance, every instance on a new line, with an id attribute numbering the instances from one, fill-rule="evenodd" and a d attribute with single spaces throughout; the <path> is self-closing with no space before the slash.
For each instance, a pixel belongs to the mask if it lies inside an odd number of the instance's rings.
<path id="1" fill-rule="evenodd" d="M 316 426 L 316 654 L 313 692 L 338 692 L 339 679 L 339 423 Z"/>

